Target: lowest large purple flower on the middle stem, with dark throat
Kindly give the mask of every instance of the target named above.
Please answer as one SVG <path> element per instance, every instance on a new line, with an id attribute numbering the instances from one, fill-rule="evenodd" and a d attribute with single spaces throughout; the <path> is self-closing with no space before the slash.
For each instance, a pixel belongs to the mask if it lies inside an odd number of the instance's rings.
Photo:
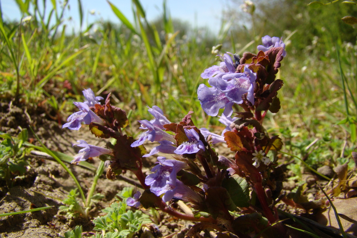
<path id="1" fill-rule="evenodd" d="M 169 190 L 175 189 L 177 184 L 176 175 L 177 172 L 183 168 L 187 168 L 185 162 L 178 161 L 176 159 L 166 159 L 165 157 L 157 157 L 159 164 L 151 169 L 153 174 L 149 174 L 145 178 L 145 184 L 150 186 L 150 191 L 155 193 L 156 196 L 166 193 Z M 173 196 L 173 195 L 172 195 Z M 164 195 L 162 200 L 164 202 L 172 199 L 171 194 Z"/>

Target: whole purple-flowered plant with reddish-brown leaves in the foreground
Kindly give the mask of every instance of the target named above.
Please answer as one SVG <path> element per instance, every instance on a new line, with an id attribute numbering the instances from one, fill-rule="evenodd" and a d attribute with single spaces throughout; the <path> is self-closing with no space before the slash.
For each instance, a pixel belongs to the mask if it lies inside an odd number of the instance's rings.
<path id="1" fill-rule="evenodd" d="M 280 193 L 275 168 L 282 142 L 276 135 L 269 136 L 263 127 L 267 112 L 277 113 L 280 109 L 277 91 L 283 81 L 276 79 L 276 74 L 286 56 L 285 44 L 278 37 L 265 36 L 262 41 L 256 55 L 246 52 L 240 58 L 223 54 L 219 66 L 214 65 L 201 75 L 209 84 L 201 84 L 197 90 L 203 110 L 209 116 L 217 116 L 224 108 L 220 121 L 226 128 L 221 135 L 196 127 L 191 120 L 192 111 L 173 123 L 160 107 L 152 106 L 148 111 L 155 118 L 139 121 L 145 132 L 135 140 L 124 134 L 123 129 L 129 124 L 126 112 L 111 105 L 110 94 L 102 105 L 102 98 L 87 89 L 83 91 L 86 101 L 74 102 L 80 111 L 73 113 L 63 127 L 79 130 L 83 122 L 96 137 L 113 138 L 116 143 L 107 143 L 104 148 L 79 140 L 76 145 L 83 148 L 72 163 L 99 156 L 106 161 L 109 179 L 123 171 L 133 172 L 144 192 L 128 198 L 127 204 L 152 207 L 199 222 L 188 236 L 206 228 L 215 229 L 222 236 L 288 236 L 286 227 L 277 223 L 279 217 L 273 203 Z M 238 107 L 242 111 L 235 112 L 232 118 L 233 108 Z M 159 145 L 147 153 L 146 140 Z M 215 151 L 213 146 L 220 142 L 230 148 L 231 157 Z M 153 173 L 145 176 L 142 158 L 158 152 L 167 156 L 158 156 Z M 172 206 L 179 200 L 190 204 L 194 215 Z M 95 223 L 107 227 L 108 219 L 118 221 L 114 211 L 120 209 L 112 209 L 110 218 L 96 219 Z M 201 216 L 207 213 L 208 216 Z"/>

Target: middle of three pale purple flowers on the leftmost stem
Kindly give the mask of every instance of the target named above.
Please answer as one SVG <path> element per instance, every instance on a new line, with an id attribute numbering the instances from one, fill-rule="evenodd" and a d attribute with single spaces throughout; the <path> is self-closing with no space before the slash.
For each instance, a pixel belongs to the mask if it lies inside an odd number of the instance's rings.
<path id="1" fill-rule="evenodd" d="M 89 125 L 91 122 L 104 125 L 103 120 L 97 116 L 92 110 L 90 110 L 89 106 L 84 102 L 73 102 L 76 107 L 78 107 L 81 111 L 75 112 L 67 118 L 67 123 L 65 123 L 62 128 L 68 127 L 70 130 L 79 130 L 82 126 L 82 122 L 84 124 Z"/>

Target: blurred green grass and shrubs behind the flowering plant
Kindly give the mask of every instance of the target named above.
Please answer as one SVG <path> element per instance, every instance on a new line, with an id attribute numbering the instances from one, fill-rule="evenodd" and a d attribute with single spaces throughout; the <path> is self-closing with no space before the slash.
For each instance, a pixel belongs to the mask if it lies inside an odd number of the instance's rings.
<path id="1" fill-rule="evenodd" d="M 82 101 L 81 91 L 91 87 L 104 97 L 111 92 L 113 104 L 131 112 L 133 122 L 150 120 L 146 106 L 157 105 L 172 122 L 192 110 L 198 127 L 218 126 L 197 100 L 201 73 L 218 63 L 212 47 L 222 44 L 220 54 L 256 53 L 262 36 L 278 36 L 286 43 L 278 75 L 285 85 L 280 112 L 268 114 L 268 131 L 284 138 L 287 151 L 310 155 L 311 164 L 346 162 L 355 148 L 357 34 L 341 20 L 357 16 L 354 4 L 232 0 L 235 7 L 222 12 L 221 31 L 213 35 L 172 19 L 165 1 L 152 22 L 133 0 L 134 22 L 111 5 L 121 24 L 99 21 L 72 34 L 63 17 L 71 1 L 52 5 L 50 16 L 35 0 L 16 2 L 22 22 L 0 19 L 2 103 L 45 111 L 61 126 L 76 110 L 72 102 Z M 55 1 L 46 2 L 50 7 Z"/>

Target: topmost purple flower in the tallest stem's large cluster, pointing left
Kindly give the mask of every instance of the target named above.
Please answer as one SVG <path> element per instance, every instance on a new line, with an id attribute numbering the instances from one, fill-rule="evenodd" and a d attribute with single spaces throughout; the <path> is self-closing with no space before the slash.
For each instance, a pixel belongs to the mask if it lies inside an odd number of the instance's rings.
<path id="1" fill-rule="evenodd" d="M 221 77 L 222 75 L 228 73 L 234 73 L 236 68 L 234 67 L 233 60 L 228 54 L 224 54 L 223 57 L 220 56 L 224 62 L 220 63 L 220 66 L 213 65 L 201 74 L 202 79 L 209 79 L 210 77 Z"/>

